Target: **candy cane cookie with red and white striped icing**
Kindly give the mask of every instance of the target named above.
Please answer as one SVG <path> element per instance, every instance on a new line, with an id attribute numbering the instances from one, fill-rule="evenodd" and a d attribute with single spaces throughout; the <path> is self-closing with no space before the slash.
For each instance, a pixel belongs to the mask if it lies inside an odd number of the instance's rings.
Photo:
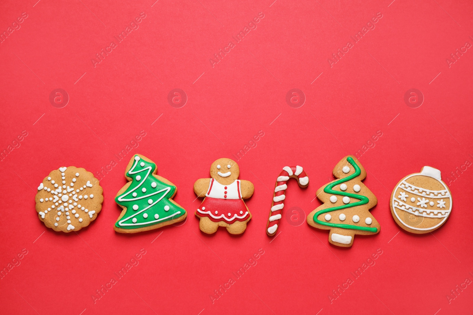
<path id="1" fill-rule="evenodd" d="M 285 166 L 282 168 L 279 177 L 276 179 L 271 211 L 269 213 L 268 223 L 266 224 L 266 233 L 269 236 L 273 236 L 278 230 L 282 208 L 284 207 L 284 199 L 286 199 L 287 182 L 290 178 L 296 179 L 301 188 L 305 188 L 309 185 L 309 178 L 301 166 Z"/>

